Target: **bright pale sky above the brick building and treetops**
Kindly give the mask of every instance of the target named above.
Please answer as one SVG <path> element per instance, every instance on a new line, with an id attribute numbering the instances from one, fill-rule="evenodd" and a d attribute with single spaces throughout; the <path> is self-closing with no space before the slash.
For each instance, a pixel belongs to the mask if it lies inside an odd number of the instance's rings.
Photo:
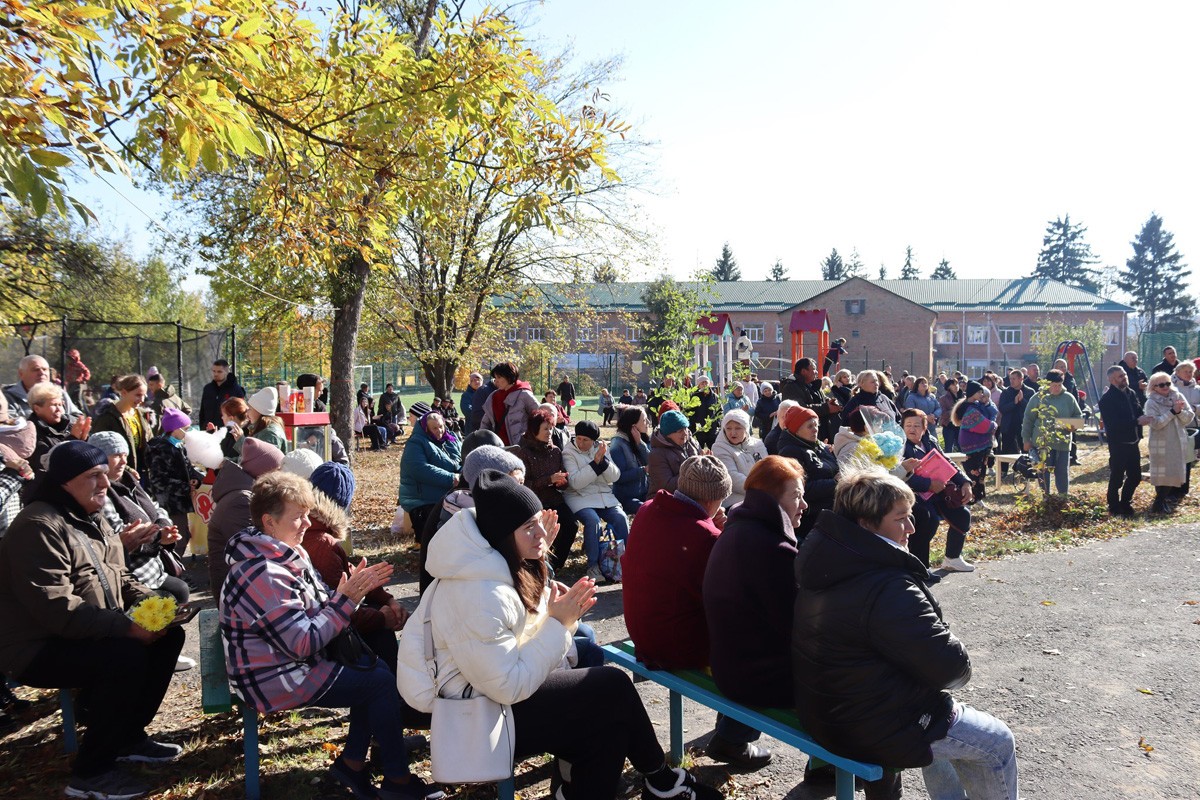
<path id="1" fill-rule="evenodd" d="M 1048 221 L 1123 265 L 1151 211 L 1195 265 L 1200 4 L 547 0 L 530 36 L 624 56 L 612 102 L 650 154 L 672 272 L 728 241 L 746 279 L 836 247 L 898 277 L 1028 275 Z M 130 193 L 128 190 L 122 188 Z M 102 188 L 109 224 L 145 218 Z M 158 201 L 132 193 L 157 212 Z"/>

